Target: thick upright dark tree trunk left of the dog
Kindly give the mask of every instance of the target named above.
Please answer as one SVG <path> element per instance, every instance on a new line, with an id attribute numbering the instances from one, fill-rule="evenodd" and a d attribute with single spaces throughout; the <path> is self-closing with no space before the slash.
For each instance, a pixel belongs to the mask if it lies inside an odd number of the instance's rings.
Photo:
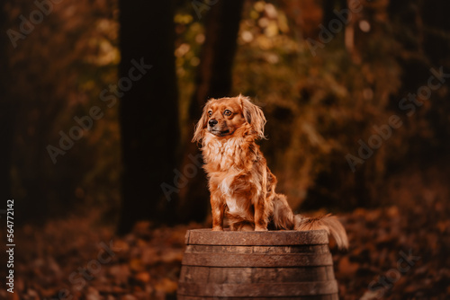
<path id="1" fill-rule="evenodd" d="M 168 201 L 161 184 L 174 181 L 179 125 L 172 2 L 121 0 L 120 10 L 123 199 L 118 232 L 124 234 L 141 219 L 175 221 L 176 195 Z M 132 86 L 121 87 L 127 84 L 122 78 L 130 78 Z"/>

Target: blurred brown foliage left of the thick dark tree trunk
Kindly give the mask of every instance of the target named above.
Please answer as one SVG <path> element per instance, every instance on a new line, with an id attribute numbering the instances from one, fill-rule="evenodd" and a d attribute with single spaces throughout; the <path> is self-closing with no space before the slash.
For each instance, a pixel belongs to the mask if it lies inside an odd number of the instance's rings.
<path id="1" fill-rule="evenodd" d="M 10 2 L 11 29 L 19 17 L 38 8 Z M 64 1 L 24 40 L 11 49 L 13 101 L 19 102 L 14 145 L 14 197 L 34 199 L 43 210 L 60 213 L 67 204 L 119 204 L 120 133 L 117 105 L 100 99 L 103 89 L 117 83 L 120 60 L 118 11 L 115 1 Z M 78 126 L 75 117 L 98 106 L 102 119 L 83 132 L 53 164 L 46 147 L 59 148 L 59 132 Z M 26 204 L 26 201 L 20 201 Z M 31 212 L 36 214 L 37 212 Z"/>

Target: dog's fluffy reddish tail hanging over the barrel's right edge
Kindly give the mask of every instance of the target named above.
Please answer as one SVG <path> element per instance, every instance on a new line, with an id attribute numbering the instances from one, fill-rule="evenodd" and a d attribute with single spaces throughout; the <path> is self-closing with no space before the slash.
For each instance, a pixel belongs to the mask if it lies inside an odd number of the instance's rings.
<path id="1" fill-rule="evenodd" d="M 346 229 L 336 216 L 331 216 L 331 214 L 319 217 L 296 215 L 294 217 L 294 224 L 294 229 L 298 231 L 324 229 L 334 237 L 340 249 L 348 249 Z"/>

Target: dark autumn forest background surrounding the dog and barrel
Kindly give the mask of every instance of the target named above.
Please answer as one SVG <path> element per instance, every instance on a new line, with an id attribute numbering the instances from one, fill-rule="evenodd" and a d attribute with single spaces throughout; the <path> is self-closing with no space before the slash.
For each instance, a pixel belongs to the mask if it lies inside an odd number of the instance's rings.
<path id="1" fill-rule="evenodd" d="M 2 0 L 0 12 L 15 298 L 173 298 L 185 230 L 210 225 L 193 125 L 207 99 L 239 93 L 266 114 L 259 144 L 294 210 L 346 225 L 341 297 L 450 293 L 448 2 Z M 110 240 L 118 257 L 74 285 Z M 392 273 L 401 253 L 420 259 Z"/>

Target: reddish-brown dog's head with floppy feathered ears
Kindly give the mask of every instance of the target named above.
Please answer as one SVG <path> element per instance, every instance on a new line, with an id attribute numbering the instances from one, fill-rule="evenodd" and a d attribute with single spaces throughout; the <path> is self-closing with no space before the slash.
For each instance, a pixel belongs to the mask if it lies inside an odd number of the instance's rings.
<path id="1" fill-rule="evenodd" d="M 244 125 L 257 138 L 264 138 L 266 118 L 263 110 L 238 95 L 233 98 L 211 99 L 203 108 L 202 118 L 195 125 L 193 142 L 200 142 L 206 132 L 218 138 L 232 137 Z"/>

